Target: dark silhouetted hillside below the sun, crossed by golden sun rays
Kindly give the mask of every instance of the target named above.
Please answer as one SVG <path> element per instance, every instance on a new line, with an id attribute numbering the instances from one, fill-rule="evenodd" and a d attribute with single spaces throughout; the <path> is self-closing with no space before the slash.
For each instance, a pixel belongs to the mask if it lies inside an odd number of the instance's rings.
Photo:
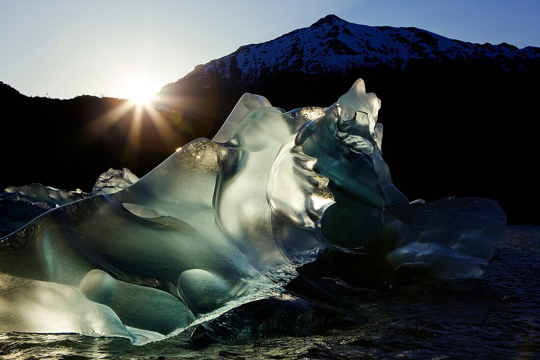
<path id="1" fill-rule="evenodd" d="M 2 189 L 39 182 L 90 191 L 109 168 L 126 167 L 140 177 L 178 146 L 200 136 L 212 137 L 207 129 L 215 122 L 156 109 L 152 120 L 144 108 L 137 122 L 136 108 L 125 99 L 28 97 L 4 83 L 0 105 Z"/>

